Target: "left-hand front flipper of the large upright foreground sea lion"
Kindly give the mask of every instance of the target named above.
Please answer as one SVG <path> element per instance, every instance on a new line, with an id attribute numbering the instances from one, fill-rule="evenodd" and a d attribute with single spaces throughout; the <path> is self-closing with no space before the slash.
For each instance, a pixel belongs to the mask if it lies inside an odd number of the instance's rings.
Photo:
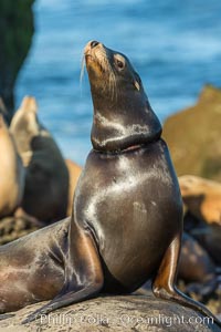
<path id="1" fill-rule="evenodd" d="M 74 235 L 74 236 L 72 236 Z M 71 227 L 71 243 L 65 268 L 65 282 L 59 295 L 51 302 L 31 313 L 22 323 L 29 323 L 41 314 L 48 314 L 93 298 L 103 287 L 103 270 L 96 245 L 90 230 L 74 222 Z"/>

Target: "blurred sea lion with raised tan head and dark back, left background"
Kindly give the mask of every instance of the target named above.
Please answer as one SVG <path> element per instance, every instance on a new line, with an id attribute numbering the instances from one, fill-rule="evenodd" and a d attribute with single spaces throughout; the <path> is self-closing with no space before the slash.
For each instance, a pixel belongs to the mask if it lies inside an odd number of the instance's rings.
<path id="1" fill-rule="evenodd" d="M 33 97 L 23 98 L 10 132 L 27 169 L 23 210 L 45 224 L 66 217 L 69 172 L 55 141 L 39 122 Z"/>

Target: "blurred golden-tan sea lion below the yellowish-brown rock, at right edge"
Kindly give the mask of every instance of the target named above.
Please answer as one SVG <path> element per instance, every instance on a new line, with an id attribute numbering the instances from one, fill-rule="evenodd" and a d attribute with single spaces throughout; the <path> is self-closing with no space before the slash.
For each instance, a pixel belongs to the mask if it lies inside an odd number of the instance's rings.
<path id="1" fill-rule="evenodd" d="M 182 199 L 188 210 L 208 225 L 221 226 L 221 184 L 193 175 L 179 177 Z"/>

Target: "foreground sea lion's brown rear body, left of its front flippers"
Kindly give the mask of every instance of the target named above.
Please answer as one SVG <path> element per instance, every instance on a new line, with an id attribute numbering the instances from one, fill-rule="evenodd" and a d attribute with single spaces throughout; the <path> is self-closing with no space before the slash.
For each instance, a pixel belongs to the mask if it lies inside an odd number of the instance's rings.
<path id="1" fill-rule="evenodd" d="M 69 227 L 66 218 L 0 247 L 0 313 L 57 294 L 64 283 Z"/>

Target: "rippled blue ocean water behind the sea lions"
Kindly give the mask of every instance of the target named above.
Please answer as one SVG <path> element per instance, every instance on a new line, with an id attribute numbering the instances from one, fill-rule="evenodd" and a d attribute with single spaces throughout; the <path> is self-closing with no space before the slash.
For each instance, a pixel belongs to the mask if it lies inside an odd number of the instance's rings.
<path id="1" fill-rule="evenodd" d="M 98 40 L 130 59 L 160 121 L 221 86 L 220 0 L 36 0 L 32 49 L 17 82 L 17 106 L 34 95 L 40 118 L 65 157 L 84 164 L 92 101 L 80 83 L 83 48 Z"/>

